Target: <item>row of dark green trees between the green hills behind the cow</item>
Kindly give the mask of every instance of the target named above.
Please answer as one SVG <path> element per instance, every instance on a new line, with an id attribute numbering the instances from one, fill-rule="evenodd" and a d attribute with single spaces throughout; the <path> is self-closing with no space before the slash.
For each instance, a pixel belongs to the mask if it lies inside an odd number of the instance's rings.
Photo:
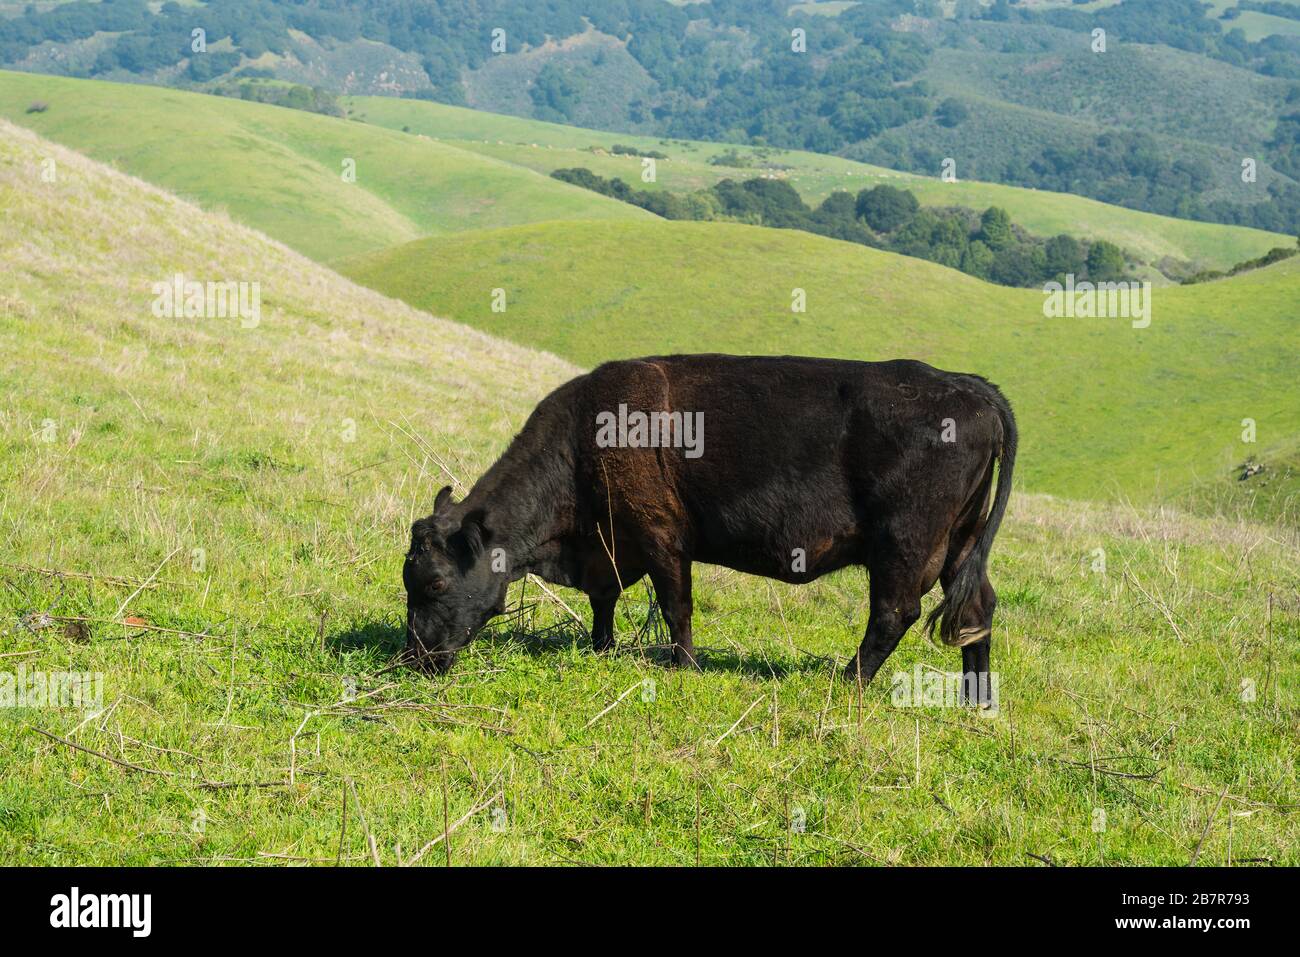
<path id="1" fill-rule="evenodd" d="M 801 229 L 961 269 L 1002 286 L 1041 286 L 1067 274 L 1075 281 L 1118 282 L 1127 277 L 1123 251 L 1106 241 L 1071 235 L 1043 239 L 1011 222 L 1005 209 L 983 213 L 965 207 L 922 207 L 893 186 L 857 195 L 832 192 L 815 209 L 781 179 L 723 179 L 707 190 L 673 194 L 636 190 L 589 169 L 558 169 L 556 179 L 632 203 L 670 220 L 728 220 Z"/>

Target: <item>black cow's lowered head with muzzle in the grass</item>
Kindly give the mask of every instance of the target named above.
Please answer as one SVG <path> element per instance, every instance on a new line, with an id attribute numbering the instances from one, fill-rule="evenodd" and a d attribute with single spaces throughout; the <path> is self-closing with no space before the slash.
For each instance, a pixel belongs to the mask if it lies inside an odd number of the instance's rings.
<path id="1" fill-rule="evenodd" d="M 406 657 L 413 666 L 447 671 L 478 629 L 506 610 L 510 576 L 493 571 L 490 541 L 482 510 L 452 502 L 450 488 L 438 493 L 433 515 L 411 527 L 402 581 Z"/>

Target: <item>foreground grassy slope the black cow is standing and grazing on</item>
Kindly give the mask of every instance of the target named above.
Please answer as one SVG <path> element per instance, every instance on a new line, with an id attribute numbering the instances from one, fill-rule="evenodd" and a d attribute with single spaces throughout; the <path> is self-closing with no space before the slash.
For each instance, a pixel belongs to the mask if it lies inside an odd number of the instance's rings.
<path id="1" fill-rule="evenodd" d="M 0 668 L 104 676 L 91 714 L 0 709 L 0 859 L 365 863 L 370 835 L 393 865 L 446 801 L 458 865 L 1300 862 L 1294 531 L 1018 494 L 997 718 L 892 703 L 957 667 L 919 635 L 861 702 L 832 684 L 859 573 L 698 566 L 703 674 L 660 664 L 642 589 L 597 657 L 533 585 L 451 676 L 386 671 L 407 523 L 573 367 L 3 122 L 0 205 Z M 260 324 L 153 317 L 176 269 L 261 282 Z"/>

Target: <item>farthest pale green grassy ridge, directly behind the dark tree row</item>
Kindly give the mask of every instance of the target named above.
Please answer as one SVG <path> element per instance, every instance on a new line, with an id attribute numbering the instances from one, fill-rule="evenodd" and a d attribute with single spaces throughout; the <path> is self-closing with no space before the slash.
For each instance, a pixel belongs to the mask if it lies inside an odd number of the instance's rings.
<path id="1" fill-rule="evenodd" d="M 602 133 L 421 100 L 358 96 L 348 98 L 346 103 L 354 117 L 369 124 L 410 129 L 458 148 L 543 173 L 564 166 L 586 166 L 604 177 L 627 179 L 637 189 L 697 190 L 728 177 L 758 176 L 764 168 L 776 165 L 788 168 L 783 174 L 809 203 L 819 203 L 833 190 L 857 192 L 885 182 L 911 190 L 927 205 L 976 209 L 1000 205 L 1032 233 L 1110 239 L 1152 263 L 1170 256 L 1222 268 L 1258 256 L 1274 246 L 1295 243 L 1295 237 L 1257 229 L 1176 220 L 1063 192 L 967 181 L 965 160 L 957 169 L 958 182 L 945 183 L 939 179 L 937 169 L 935 177 L 923 177 L 794 150 L 755 151 L 724 143 Z M 959 130 L 945 131 L 945 135 L 949 134 L 959 135 Z M 641 160 L 610 155 L 608 150 L 615 144 L 666 153 L 670 159 L 659 161 L 654 183 L 644 183 Z M 593 153 L 592 147 L 598 147 L 601 152 Z M 712 163 L 732 152 L 751 165 L 736 168 Z M 967 153 L 957 152 L 954 156 Z"/>

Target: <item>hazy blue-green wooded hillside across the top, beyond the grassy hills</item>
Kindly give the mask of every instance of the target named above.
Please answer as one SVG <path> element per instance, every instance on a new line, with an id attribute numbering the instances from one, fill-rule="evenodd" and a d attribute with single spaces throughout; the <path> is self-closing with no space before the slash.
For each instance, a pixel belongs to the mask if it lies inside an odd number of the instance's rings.
<path id="1" fill-rule="evenodd" d="M 980 179 L 1292 233 L 1300 30 L 1277 12 L 1252 0 L 77 0 L 0 18 L 0 66 L 187 88 L 277 78 L 930 176 L 953 159 Z M 1234 178 L 1243 157 L 1253 183 Z"/>

